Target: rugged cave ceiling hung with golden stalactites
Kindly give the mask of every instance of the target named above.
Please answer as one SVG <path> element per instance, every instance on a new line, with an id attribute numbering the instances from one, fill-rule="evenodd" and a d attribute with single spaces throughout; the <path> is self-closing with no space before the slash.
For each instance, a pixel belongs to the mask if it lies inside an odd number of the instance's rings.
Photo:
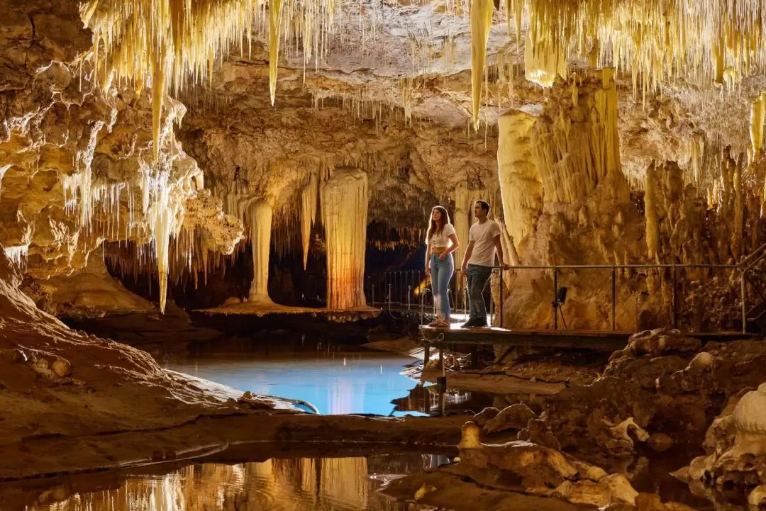
<path id="1" fill-rule="evenodd" d="M 362 168 L 369 219 L 411 227 L 434 202 L 450 203 L 460 184 L 497 197 L 498 117 L 542 112 L 549 86 L 573 73 L 617 67 L 622 168 L 634 190 L 650 162 L 666 160 L 712 186 L 721 149 L 741 154 L 751 146 L 751 103 L 766 90 L 760 2 L 2 0 L 0 7 L 7 20 L 0 207 L 15 219 L 0 242 L 31 244 L 47 265 L 62 257 L 82 264 L 102 239 L 146 242 L 162 227 L 149 215 L 135 232 L 107 227 L 75 239 L 88 215 L 78 222 L 67 213 L 62 176 L 73 179 L 78 164 L 103 184 L 162 160 L 185 190 L 173 195 L 178 204 L 214 210 L 209 197 L 197 197 L 204 181 L 221 202 L 232 190 L 269 201 L 277 223 L 296 220 L 312 174 Z M 481 55 L 485 69 L 472 69 Z M 211 213 L 205 222 L 215 219 L 208 230 L 227 248 L 239 235 L 222 218 Z"/>

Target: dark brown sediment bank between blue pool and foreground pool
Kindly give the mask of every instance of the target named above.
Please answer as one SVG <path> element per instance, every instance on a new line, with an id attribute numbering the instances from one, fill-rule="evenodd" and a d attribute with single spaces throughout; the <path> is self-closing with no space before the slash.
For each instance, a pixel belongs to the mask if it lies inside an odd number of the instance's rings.
<path id="1" fill-rule="evenodd" d="M 220 455 L 263 459 L 266 444 L 292 444 L 305 453 L 347 449 L 424 448 L 443 451 L 460 439 L 469 417 L 383 418 L 362 415 L 247 414 L 195 418 L 151 430 L 83 436 L 31 437 L 0 446 L 0 480 L 93 471 Z M 261 449 L 260 446 L 264 446 Z M 247 453 L 247 454 L 243 454 Z"/>

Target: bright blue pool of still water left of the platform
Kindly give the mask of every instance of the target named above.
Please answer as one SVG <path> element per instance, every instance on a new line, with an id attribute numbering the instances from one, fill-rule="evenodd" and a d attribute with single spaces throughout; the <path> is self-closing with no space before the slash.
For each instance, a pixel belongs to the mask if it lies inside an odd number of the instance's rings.
<path id="1" fill-rule="evenodd" d="M 362 351 L 324 343 L 257 353 L 197 354 L 166 367 L 254 394 L 301 399 L 322 414 L 394 412 L 391 400 L 408 395 L 417 382 L 401 374 L 409 356 Z"/>

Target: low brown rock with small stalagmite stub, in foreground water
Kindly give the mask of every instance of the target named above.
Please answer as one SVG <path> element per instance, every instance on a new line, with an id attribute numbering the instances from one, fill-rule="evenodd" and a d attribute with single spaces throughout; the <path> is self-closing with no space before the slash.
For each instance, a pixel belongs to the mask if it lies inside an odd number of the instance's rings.
<path id="1" fill-rule="evenodd" d="M 534 421 L 538 419 L 530 419 Z M 480 434 L 478 425 L 466 422 L 458 446 L 459 462 L 393 480 L 384 492 L 398 499 L 455 510 L 564 511 L 583 509 L 582 504 L 610 511 L 692 509 L 683 503 L 662 502 L 652 493 L 640 493 L 631 484 L 630 479 L 647 470 L 645 458 L 626 466 L 629 471 L 624 474 L 609 474 L 558 448 L 530 441 L 486 444 Z"/>

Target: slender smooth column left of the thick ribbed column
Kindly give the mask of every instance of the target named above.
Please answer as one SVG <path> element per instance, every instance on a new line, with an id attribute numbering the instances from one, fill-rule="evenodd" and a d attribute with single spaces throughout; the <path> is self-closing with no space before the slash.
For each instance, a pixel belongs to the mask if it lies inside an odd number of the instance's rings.
<path id="1" fill-rule="evenodd" d="M 247 208 L 250 247 L 253 255 L 253 282 L 248 301 L 271 303 L 269 298 L 269 250 L 273 209 L 265 200 L 256 200 Z"/>

